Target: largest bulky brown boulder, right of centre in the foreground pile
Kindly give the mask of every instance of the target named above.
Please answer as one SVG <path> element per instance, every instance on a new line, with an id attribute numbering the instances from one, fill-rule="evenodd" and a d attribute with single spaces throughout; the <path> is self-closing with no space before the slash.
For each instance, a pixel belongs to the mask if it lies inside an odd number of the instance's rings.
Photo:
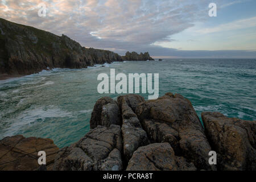
<path id="1" fill-rule="evenodd" d="M 189 100 L 167 93 L 157 100 L 142 102 L 136 113 L 151 142 L 170 143 L 176 155 L 184 156 L 198 169 L 216 169 L 208 163 L 212 149 Z"/>

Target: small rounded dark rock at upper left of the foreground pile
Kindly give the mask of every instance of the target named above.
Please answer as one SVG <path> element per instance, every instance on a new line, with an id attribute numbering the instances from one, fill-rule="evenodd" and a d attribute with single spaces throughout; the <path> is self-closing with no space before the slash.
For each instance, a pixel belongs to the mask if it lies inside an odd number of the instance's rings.
<path id="1" fill-rule="evenodd" d="M 120 111 L 117 102 L 110 97 L 100 98 L 94 105 L 92 117 L 90 118 L 90 129 L 98 125 L 109 127 L 110 125 L 121 125 Z"/>

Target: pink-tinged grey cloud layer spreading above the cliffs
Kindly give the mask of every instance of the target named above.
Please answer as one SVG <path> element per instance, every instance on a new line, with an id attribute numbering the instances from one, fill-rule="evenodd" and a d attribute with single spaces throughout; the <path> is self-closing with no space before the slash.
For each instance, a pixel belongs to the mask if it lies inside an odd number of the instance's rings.
<path id="1" fill-rule="evenodd" d="M 44 18 L 38 16 L 38 5 L 42 2 L 47 7 L 47 16 Z M 210 2 L 212 1 L 2 0 L 0 17 L 53 34 L 68 35 L 85 47 L 110 49 L 122 55 L 126 51 L 152 51 L 151 55 L 180 55 L 182 51 L 153 44 L 173 42 L 172 35 L 193 27 L 195 22 L 207 20 Z M 226 2 L 230 1 L 215 2 L 227 6 Z M 234 23 L 248 26 L 247 23 L 254 24 L 253 20 Z M 227 25 L 229 28 L 240 26 Z M 205 28 L 201 32 L 206 34 L 223 30 L 230 29 L 225 29 L 224 24 L 210 30 Z"/>

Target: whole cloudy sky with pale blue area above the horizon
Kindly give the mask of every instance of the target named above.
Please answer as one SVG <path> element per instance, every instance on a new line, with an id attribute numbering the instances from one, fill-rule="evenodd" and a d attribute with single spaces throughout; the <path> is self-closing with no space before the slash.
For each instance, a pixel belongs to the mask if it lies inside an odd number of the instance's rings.
<path id="1" fill-rule="evenodd" d="M 256 58 L 255 0 L 0 0 L 0 17 L 120 55 Z"/>

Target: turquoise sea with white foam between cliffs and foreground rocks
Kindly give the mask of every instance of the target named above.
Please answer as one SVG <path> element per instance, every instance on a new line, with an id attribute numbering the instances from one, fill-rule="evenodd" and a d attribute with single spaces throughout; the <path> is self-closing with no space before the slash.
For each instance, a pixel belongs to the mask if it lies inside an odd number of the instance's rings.
<path id="1" fill-rule="evenodd" d="M 256 119 L 256 61 L 241 59 L 170 59 L 127 61 L 86 69 L 53 69 L 0 81 L 0 139 L 22 134 L 51 138 L 59 147 L 89 131 L 98 98 L 97 76 L 116 73 L 159 73 L 159 96 L 180 93 L 197 114 L 218 111 L 228 117 Z M 148 94 L 143 94 L 147 98 Z"/>

